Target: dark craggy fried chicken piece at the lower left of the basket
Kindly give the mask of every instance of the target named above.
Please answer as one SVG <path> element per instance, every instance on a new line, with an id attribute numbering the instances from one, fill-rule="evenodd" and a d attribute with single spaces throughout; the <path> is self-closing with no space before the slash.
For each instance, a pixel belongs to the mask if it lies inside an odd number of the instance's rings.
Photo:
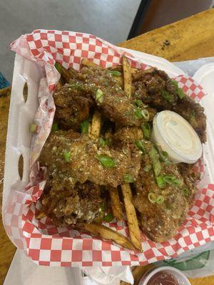
<path id="1" fill-rule="evenodd" d="M 92 182 L 61 190 L 46 187 L 41 197 L 44 213 L 58 226 L 98 221 L 103 216 L 103 203 L 100 187 Z"/>

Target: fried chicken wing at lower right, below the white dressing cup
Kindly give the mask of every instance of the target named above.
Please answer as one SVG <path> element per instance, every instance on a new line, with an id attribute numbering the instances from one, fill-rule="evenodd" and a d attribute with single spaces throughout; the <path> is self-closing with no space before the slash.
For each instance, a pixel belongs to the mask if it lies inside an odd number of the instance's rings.
<path id="1" fill-rule="evenodd" d="M 176 165 L 160 162 L 158 177 L 153 171 L 149 155 L 151 142 L 145 142 L 141 170 L 135 183 L 136 196 L 133 204 L 140 214 L 143 232 L 155 242 L 163 242 L 173 237 L 183 223 L 188 212 L 183 178 Z M 158 185 L 157 180 L 163 185 Z M 166 181 L 166 182 L 165 182 Z"/>

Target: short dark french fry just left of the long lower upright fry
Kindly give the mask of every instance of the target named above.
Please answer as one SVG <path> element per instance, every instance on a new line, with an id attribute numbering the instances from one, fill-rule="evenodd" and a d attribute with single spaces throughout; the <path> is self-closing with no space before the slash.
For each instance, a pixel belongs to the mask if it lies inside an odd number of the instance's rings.
<path id="1" fill-rule="evenodd" d="M 114 187 L 108 187 L 108 191 L 111 198 L 111 209 L 113 217 L 116 217 L 117 221 L 121 221 L 123 219 L 123 210 L 121 207 L 118 189 Z"/>

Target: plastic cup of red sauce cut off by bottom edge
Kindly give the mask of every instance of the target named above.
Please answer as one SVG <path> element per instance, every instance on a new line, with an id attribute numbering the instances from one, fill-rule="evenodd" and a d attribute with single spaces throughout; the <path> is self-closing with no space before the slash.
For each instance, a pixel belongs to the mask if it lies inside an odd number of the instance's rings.
<path id="1" fill-rule="evenodd" d="M 167 276 L 164 278 L 164 276 L 161 276 L 162 274 L 167 274 Z M 159 276 L 159 278 L 156 276 Z M 172 277 L 168 279 L 170 276 Z M 138 283 L 138 285 L 150 284 L 191 285 L 190 281 L 188 281 L 188 278 L 181 271 L 171 266 L 162 266 L 147 271 Z"/>

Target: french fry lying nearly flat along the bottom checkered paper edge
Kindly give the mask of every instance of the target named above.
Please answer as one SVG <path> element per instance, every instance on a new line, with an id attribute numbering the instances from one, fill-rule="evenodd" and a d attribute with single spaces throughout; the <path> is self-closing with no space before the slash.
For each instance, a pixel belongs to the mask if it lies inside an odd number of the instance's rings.
<path id="1" fill-rule="evenodd" d="M 103 226 L 103 224 L 83 224 L 80 227 L 81 229 L 85 229 L 87 232 L 101 237 L 102 239 L 113 240 L 113 242 L 120 244 L 122 247 L 126 247 L 126 249 L 131 249 L 133 251 L 136 250 L 135 247 L 133 247 L 133 244 L 126 239 L 126 237 L 123 237 L 122 234 L 113 231 L 113 229 Z"/>

